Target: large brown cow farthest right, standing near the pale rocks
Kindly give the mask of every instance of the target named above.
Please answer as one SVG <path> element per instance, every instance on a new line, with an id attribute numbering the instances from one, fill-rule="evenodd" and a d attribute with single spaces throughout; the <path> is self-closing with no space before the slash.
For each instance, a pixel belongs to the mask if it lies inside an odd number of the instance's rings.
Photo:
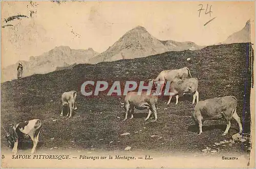
<path id="1" fill-rule="evenodd" d="M 222 135 L 227 134 L 232 117 L 238 122 L 239 133 L 242 133 L 243 130 L 240 117 L 237 114 L 237 98 L 232 95 L 198 102 L 192 117 L 196 124 L 199 125 L 198 135 L 203 133 L 202 125 L 204 120 L 217 120 L 221 118 L 224 118 L 227 122 L 227 128 Z"/>

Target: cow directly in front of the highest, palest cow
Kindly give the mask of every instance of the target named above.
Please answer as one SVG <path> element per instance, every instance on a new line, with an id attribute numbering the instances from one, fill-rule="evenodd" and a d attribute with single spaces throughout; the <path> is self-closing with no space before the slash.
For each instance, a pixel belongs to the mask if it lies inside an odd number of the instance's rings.
<path id="1" fill-rule="evenodd" d="M 170 92 L 173 92 L 173 95 L 176 95 L 176 105 L 178 104 L 179 95 L 184 94 L 193 94 L 193 102 L 195 103 L 195 100 L 197 98 L 197 103 L 199 101 L 199 93 L 197 91 L 198 88 L 198 79 L 197 78 L 189 78 L 189 79 L 179 79 L 175 80 L 173 83 L 170 84 Z M 173 95 L 169 96 L 169 101 L 167 105 L 170 103 L 170 100 L 172 100 Z"/>

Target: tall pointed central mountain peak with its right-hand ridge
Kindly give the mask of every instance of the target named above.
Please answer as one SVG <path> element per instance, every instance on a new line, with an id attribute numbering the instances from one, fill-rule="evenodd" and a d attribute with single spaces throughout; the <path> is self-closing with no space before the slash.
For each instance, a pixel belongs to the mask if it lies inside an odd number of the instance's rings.
<path id="1" fill-rule="evenodd" d="M 198 50 L 199 46 L 193 42 L 176 42 L 172 40 L 161 41 L 152 36 L 144 27 L 126 32 L 108 50 L 90 59 L 89 63 L 109 62 L 121 59 L 134 59 L 156 55 L 168 51 Z"/>

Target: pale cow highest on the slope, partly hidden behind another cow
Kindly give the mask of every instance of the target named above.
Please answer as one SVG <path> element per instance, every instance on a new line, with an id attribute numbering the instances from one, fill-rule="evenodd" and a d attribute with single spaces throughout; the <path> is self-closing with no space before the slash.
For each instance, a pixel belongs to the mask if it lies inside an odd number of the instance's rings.
<path id="1" fill-rule="evenodd" d="M 153 80 L 154 84 L 155 82 L 173 82 L 175 79 L 186 79 L 187 76 L 190 76 L 191 78 L 191 74 L 190 71 L 188 69 L 188 67 L 183 67 L 180 69 L 174 69 L 174 70 L 163 70 L 160 72 L 160 74 L 157 76 L 156 79 Z M 160 92 L 162 92 L 163 90 L 163 84 L 161 85 L 161 89 Z"/>

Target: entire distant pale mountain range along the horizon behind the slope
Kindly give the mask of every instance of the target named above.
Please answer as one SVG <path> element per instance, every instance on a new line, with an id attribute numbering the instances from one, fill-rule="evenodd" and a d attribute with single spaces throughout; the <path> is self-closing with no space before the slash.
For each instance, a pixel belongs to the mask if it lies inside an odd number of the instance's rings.
<path id="1" fill-rule="evenodd" d="M 250 20 L 246 22 L 241 31 L 233 33 L 219 44 L 242 42 L 250 42 Z M 23 63 L 23 76 L 26 77 L 72 68 L 80 63 L 96 64 L 121 59 L 141 58 L 168 51 L 200 50 L 204 47 L 206 46 L 200 46 L 194 42 L 159 40 L 148 33 L 144 27 L 137 26 L 127 31 L 108 50 L 101 54 L 95 52 L 92 48 L 88 50 L 73 50 L 69 46 L 58 46 L 40 56 L 31 56 L 29 61 L 18 62 Z M 2 82 L 17 78 L 16 68 L 18 62 L 2 68 Z"/>

